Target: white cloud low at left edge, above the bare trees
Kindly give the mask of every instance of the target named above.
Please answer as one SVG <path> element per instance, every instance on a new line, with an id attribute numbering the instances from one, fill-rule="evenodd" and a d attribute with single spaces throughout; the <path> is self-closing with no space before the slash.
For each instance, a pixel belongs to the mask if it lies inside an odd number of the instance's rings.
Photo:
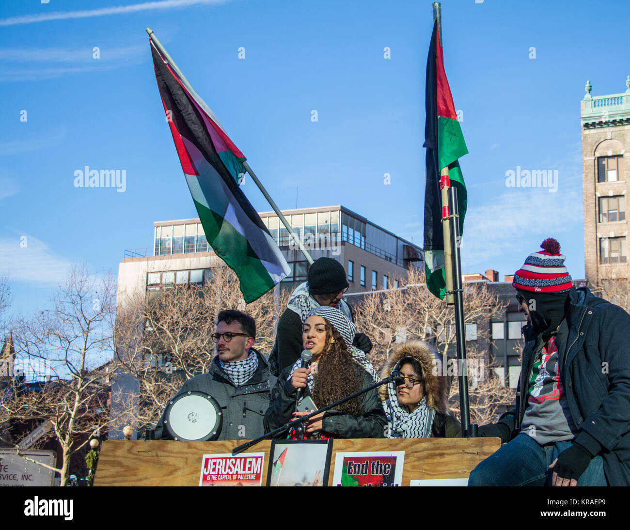
<path id="1" fill-rule="evenodd" d="M 20 244 L 26 244 L 26 247 Z M 45 242 L 19 232 L 14 237 L 0 239 L 0 256 L 0 271 L 8 272 L 11 281 L 39 286 L 57 285 L 64 281 L 71 266 L 71 261 L 52 251 Z"/>

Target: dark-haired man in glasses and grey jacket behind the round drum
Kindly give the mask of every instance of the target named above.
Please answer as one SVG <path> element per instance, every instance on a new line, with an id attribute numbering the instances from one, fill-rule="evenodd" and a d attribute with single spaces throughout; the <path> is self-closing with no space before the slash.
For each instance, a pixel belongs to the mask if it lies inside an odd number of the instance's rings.
<path id="1" fill-rule="evenodd" d="M 253 439 L 264 434 L 263 418 L 269 407 L 270 389 L 276 383 L 269 365 L 256 350 L 256 322 L 230 309 L 217 316 L 212 335 L 217 354 L 207 373 L 186 381 L 176 396 L 198 391 L 211 395 L 223 413 L 219 440 Z M 175 397 L 176 397 L 175 396 Z M 164 415 L 156 426 L 156 438 L 168 439 Z"/>

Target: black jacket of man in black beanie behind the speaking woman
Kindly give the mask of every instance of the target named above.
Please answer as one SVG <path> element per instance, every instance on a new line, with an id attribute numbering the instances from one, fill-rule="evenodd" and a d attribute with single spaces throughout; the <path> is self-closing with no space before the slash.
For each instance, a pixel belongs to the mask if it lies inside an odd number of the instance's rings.
<path id="1" fill-rule="evenodd" d="M 352 307 L 350 307 L 350 314 L 352 315 Z M 365 354 L 372 349 L 372 342 L 364 333 L 355 334 L 353 344 Z M 300 358 L 303 350 L 302 319 L 300 315 L 287 307 L 278 319 L 275 344 L 273 344 L 273 350 L 269 356 L 273 375 L 278 375 L 287 366 L 293 366 L 295 361 Z"/>

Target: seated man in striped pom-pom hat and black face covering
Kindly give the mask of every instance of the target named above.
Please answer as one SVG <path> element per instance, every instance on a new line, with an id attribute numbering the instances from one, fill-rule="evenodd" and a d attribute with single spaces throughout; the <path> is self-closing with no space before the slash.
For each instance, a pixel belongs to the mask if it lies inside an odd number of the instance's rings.
<path id="1" fill-rule="evenodd" d="M 527 315 L 516 408 L 480 436 L 505 445 L 469 485 L 630 485 L 630 315 L 576 289 L 555 239 L 512 286 Z"/>

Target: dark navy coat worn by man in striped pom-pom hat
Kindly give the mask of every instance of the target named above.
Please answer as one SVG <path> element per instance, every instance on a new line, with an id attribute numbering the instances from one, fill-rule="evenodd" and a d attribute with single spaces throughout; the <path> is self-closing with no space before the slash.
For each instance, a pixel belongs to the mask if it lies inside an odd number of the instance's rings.
<path id="1" fill-rule="evenodd" d="M 630 485 L 630 315 L 593 296 L 586 287 L 569 293 L 566 336 L 558 336 L 558 366 L 573 423 L 575 442 L 600 454 L 611 486 Z M 524 327 L 525 347 L 516 408 L 503 414 L 508 441 L 520 432 L 529 380 L 542 337 Z"/>

